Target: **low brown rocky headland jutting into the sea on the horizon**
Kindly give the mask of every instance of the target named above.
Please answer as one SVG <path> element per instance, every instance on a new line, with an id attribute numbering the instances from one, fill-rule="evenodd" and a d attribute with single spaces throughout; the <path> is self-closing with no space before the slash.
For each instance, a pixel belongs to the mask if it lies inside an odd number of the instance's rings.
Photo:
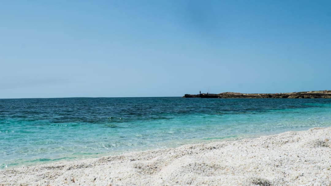
<path id="1" fill-rule="evenodd" d="M 201 98 L 331 98 L 331 91 L 308 91 L 293 93 L 200 93 L 185 94 L 183 97 Z"/>

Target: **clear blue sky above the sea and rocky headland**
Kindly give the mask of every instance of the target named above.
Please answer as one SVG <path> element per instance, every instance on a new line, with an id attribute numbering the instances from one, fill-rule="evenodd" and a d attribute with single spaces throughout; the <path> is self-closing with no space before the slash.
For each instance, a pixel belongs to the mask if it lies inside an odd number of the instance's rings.
<path id="1" fill-rule="evenodd" d="M 331 90 L 331 1 L 0 2 L 0 98 Z"/>

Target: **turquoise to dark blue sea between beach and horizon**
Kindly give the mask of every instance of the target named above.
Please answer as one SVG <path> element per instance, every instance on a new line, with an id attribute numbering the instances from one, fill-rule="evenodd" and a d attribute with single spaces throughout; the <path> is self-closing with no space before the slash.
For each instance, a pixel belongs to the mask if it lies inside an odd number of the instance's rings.
<path id="1" fill-rule="evenodd" d="M 0 99 L 0 169 L 331 126 L 331 99 Z"/>

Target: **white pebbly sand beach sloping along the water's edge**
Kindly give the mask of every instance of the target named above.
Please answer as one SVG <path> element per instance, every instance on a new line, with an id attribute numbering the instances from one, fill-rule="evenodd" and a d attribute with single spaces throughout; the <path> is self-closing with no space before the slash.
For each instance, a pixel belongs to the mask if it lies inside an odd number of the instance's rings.
<path id="1" fill-rule="evenodd" d="M 331 185 L 331 127 L 5 169 L 0 185 Z"/>

